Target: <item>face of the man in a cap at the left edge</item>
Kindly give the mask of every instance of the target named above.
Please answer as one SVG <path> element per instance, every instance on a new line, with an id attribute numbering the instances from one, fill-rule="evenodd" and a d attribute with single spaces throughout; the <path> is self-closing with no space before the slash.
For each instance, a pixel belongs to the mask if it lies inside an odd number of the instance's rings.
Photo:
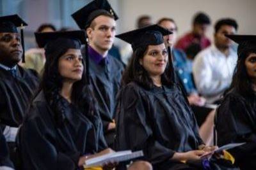
<path id="1" fill-rule="evenodd" d="M 0 33 L 0 62 L 6 66 L 14 66 L 22 58 L 22 46 L 18 33 Z"/>

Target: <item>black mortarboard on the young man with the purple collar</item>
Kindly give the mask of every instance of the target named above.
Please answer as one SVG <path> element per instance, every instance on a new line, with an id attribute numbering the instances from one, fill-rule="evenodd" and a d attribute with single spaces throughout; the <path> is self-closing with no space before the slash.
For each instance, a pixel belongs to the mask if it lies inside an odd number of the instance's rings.
<path id="1" fill-rule="evenodd" d="M 106 0 L 94 0 L 89 4 L 86 4 L 83 8 L 73 13 L 71 16 L 76 21 L 76 24 L 80 29 L 86 29 L 89 27 L 92 20 L 100 15 L 111 14 L 118 19 L 115 11 L 111 8 L 110 4 Z"/>

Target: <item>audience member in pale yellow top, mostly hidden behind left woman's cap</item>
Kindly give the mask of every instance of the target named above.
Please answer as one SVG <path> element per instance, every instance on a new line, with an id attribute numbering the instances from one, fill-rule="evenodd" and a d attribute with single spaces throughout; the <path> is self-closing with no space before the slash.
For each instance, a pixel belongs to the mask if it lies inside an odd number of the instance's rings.
<path id="1" fill-rule="evenodd" d="M 36 32 L 53 32 L 56 28 L 52 24 L 42 24 Z M 36 44 L 38 44 L 36 42 Z M 45 64 L 44 48 L 31 48 L 25 52 L 26 63 L 21 64 L 28 69 L 34 69 L 38 74 L 42 74 L 42 69 Z"/>

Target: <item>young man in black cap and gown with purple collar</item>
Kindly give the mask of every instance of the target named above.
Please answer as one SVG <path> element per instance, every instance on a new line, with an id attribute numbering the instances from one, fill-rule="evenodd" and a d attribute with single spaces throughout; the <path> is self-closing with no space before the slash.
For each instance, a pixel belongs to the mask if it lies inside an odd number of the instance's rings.
<path id="1" fill-rule="evenodd" d="M 115 134 L 115 97 L 120 87 L 124 66 L 108 54 L 115 38 L 115 20 L 118 19 L 108 1 L 92 1 L 72 14 L 80 29 L 88 36 L 88 48 L 82 49 L 86 62 L 90 64 L 90 83 L 99 103 L 105 138 L 113 145 Z M 88 68 L 86 68 L 88 69 Z"/>

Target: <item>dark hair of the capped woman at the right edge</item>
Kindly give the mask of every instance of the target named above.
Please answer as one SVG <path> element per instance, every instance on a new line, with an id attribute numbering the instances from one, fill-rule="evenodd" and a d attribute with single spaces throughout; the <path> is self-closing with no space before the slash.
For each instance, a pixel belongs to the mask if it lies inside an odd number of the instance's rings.
<path id="1" fill-rule="evenodd" d="M 235 89 L 241 96 L 244 97 L 255 97 L 252 89 L 252 80 L 247 73 L 245 66 L 245 60 L 250 55 L 250 53 L 256 53 L 256 49 L 246 50 L 246 52 L 241 53 L 238 56 L 236 68 L 234 70 L 232 83 L 230 88 L 225 91 L 224 96 L 230 92 L 230 90 Z"/>

